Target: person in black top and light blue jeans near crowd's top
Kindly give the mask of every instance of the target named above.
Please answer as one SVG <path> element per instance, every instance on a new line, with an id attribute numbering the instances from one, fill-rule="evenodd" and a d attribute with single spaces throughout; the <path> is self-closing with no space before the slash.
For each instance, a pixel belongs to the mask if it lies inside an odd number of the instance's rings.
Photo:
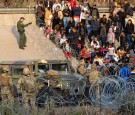
<path id="1" fill-rule="evenodd" d="M 71 17 L 71 10 L 69 9 L 69 6 L 66 5 L 65 9 L 63 10 L 63 22 L 64 22 L 64 28 L 66 29 L 68 22 Z"/>

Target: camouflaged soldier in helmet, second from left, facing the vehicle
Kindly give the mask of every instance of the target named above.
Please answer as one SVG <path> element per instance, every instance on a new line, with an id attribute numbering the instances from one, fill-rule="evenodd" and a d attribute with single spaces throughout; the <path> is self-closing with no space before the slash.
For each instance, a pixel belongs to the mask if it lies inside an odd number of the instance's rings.
<path id="1" fill-rule="evenodd" d="M 35 109 L 35 93 L 36 93 L 36 79 L 30 75 L 29 68 L 23 69 L 23 74 L 17 84 L 17 90 L 19 96 L 23 96 L 24 107 L 26 109 L 29 108 L 29 101 L 31 108 Z"/>

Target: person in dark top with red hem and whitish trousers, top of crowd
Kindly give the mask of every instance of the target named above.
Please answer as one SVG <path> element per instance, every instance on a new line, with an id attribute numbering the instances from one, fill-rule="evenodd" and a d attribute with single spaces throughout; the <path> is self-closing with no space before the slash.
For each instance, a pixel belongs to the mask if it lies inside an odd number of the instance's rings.
<path id="1" fill-rule="evenodd" d="M 73 17 L 75 20 L 75 26 L 77 26 L 80 21 L 81 7 L 79 1 L 76 1 L 76 5 L 73 7 Z"/>

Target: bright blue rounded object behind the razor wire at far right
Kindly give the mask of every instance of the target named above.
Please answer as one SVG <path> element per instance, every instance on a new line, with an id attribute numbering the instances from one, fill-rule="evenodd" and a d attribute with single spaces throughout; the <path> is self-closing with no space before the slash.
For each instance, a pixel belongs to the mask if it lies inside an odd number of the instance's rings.
<path id="1" fill-rule="evenodd" d="M 123 78 L 123 79 L 124 78 L 128 78 L 130 76 L 130 74 L 131 74 L 131 71 L 130 71 L 130 69 L 127 66 L 122 67 L 120 69 L 120 71 L 119 71 L 119 76 L 121 78 Z"/>

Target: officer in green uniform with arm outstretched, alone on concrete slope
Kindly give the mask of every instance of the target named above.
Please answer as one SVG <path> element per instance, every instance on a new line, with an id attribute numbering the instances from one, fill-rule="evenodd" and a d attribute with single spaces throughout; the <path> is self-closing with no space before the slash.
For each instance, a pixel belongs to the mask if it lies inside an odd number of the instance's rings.
<path id="1" fill-rule="evenodd" d="M 20 49 L 24 49 L 24 47 L 26 47 L 26 35 L 25 35 L 25 29 L 24 27 L 32 24 L 32 22 L 28 23 L 28 24 L 23 24 L 24 22 L 24 17 L 21 17 L 20 20 L 17 22 L 17 30 L 19 32 L 20 35 L 20 40 L 19 40 L 19 48 Z"/>

